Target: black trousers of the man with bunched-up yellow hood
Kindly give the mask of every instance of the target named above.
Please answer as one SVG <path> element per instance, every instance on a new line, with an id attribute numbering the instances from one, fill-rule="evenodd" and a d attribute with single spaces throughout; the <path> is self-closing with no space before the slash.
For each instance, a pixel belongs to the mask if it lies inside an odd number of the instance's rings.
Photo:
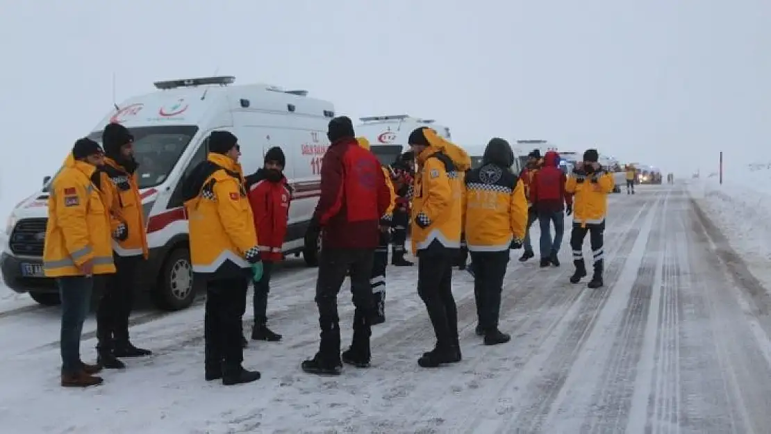
<path id="1" fill-rule="evenodd" d="M 426 304 L 436 334 L 436 347 L 458 343 L 458 309 L 453 297 L 453 259 L 456 250 L 418 254 L 418 295 Z M 474 264 L 476 267 L 477 264 Z"/>

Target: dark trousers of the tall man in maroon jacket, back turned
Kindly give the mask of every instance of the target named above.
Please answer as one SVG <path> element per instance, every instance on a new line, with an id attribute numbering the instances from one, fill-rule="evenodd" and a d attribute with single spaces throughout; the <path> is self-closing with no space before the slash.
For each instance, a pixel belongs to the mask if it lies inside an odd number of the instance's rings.
<path id="1" fill-rule="evenodd" d="M 316 280 L 316 305 L 318 325 L 321 327 L 321 343 L 318 356 L 328 365 L 340 363 L 340 317 L 337 296 L 350 272 L 353 294 L 353 341 L 351 348 L 362 357 L 369 357 L 369 337 L 372 335 L 374 303 L 369 277 L 372 275 L 372 261 L 375 252 L 371 249 L 325 249 L 318 261 Z"/>

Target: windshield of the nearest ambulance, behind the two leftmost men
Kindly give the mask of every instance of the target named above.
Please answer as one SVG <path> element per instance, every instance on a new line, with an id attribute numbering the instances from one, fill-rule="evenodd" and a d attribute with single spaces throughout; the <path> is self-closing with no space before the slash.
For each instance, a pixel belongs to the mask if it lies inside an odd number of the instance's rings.
<path id="1" fill-rule="evenodd" d="M 140 188 L 149 188 L 160 185 L 169 177 L 169 173 L 197 133 L 198 127 L 137 126 L 129 130 L 134 136 L 134 158 L 139 163 L 136 181 Z M 91 133 L 89 139 L 102 144 L 102 132 Z"/>

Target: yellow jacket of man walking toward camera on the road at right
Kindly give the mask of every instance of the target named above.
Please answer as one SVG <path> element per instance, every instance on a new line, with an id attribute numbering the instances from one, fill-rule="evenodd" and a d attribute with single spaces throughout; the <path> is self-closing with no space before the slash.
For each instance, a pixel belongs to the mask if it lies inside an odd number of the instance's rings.
<path id="1" fill-rule="evenodd" d="M 612 173 L 574 170 L 565 183 L 565 192 L 574 194 L 574 223 L 581 224 L 581 227 L 601 224 L 608 214 L 608 194 L 613 192 L 614 184 Z"/>

